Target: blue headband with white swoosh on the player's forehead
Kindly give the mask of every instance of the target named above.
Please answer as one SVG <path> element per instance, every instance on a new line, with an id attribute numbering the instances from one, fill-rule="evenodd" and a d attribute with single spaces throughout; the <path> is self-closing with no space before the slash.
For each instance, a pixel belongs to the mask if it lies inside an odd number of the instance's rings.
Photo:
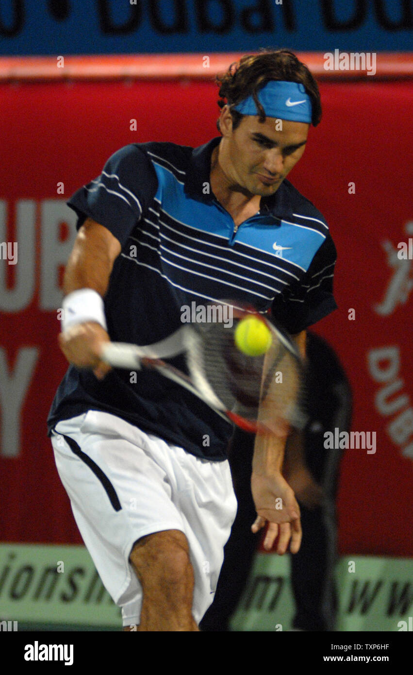
<path id="1" fill-rule="evenodd" d="M 311 123 L 311 99 L 303 84 L 271 80 L 258 91 L 257 98 L 267 117 Z M 252 96 L 234 105 L 233 109 L 243 115 L 260 114 Z"/>

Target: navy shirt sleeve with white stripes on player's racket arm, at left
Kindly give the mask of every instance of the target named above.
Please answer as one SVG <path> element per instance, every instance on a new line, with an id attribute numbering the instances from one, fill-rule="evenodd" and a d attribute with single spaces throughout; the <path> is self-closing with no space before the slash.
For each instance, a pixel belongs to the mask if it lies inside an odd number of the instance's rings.
<path id="1" fill-rule="evenodd" d="M 101 175 L 77 190 L 67 205 L 78 215 L 78 229 L 92 218 L 123 246 L 156 191 L 152 162 L 138 145 L 130 144 L 109 157 Z"/>

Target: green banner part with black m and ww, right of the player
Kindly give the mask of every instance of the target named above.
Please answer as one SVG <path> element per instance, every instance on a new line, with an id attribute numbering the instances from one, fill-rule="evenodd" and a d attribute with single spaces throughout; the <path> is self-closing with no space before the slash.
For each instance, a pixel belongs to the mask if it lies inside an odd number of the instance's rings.
<path id="1" fill-rule="evenodd" d="M 413 560 L 343 557 L 336 580 L 337 630 L 413 630 Z M 291 630 L 293 616 L 289 559 L 257 553 L 231 628 Z"/>

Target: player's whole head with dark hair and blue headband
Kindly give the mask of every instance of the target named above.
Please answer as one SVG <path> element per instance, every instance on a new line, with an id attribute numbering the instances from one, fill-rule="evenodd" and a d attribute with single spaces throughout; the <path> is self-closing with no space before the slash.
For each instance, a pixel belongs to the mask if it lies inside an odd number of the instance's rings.
<path id="1" fill-rule="evenodd" d="M 217 83 L 217 126 L 229 183 L 250 194 L 273 194 L 302 157 L 310 123 L 321 119 L 314 78 L 296 55 L 282 49 L 242 57 Z M 298 114 L 300 108 L 304 113 Z"/>

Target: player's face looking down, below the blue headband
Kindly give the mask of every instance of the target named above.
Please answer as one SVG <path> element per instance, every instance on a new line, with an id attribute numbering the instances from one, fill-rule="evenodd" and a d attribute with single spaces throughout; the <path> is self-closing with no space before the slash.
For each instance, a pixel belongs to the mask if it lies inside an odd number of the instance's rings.
<path id="1" fill-rule="evenodd" d="M 246 115 L 235 131 L 229 110 L 220 119 L 225 138 L 223 171 L 231 186 L 250 194 L 274 194 L 304 153 L 309 124 Z"/>

